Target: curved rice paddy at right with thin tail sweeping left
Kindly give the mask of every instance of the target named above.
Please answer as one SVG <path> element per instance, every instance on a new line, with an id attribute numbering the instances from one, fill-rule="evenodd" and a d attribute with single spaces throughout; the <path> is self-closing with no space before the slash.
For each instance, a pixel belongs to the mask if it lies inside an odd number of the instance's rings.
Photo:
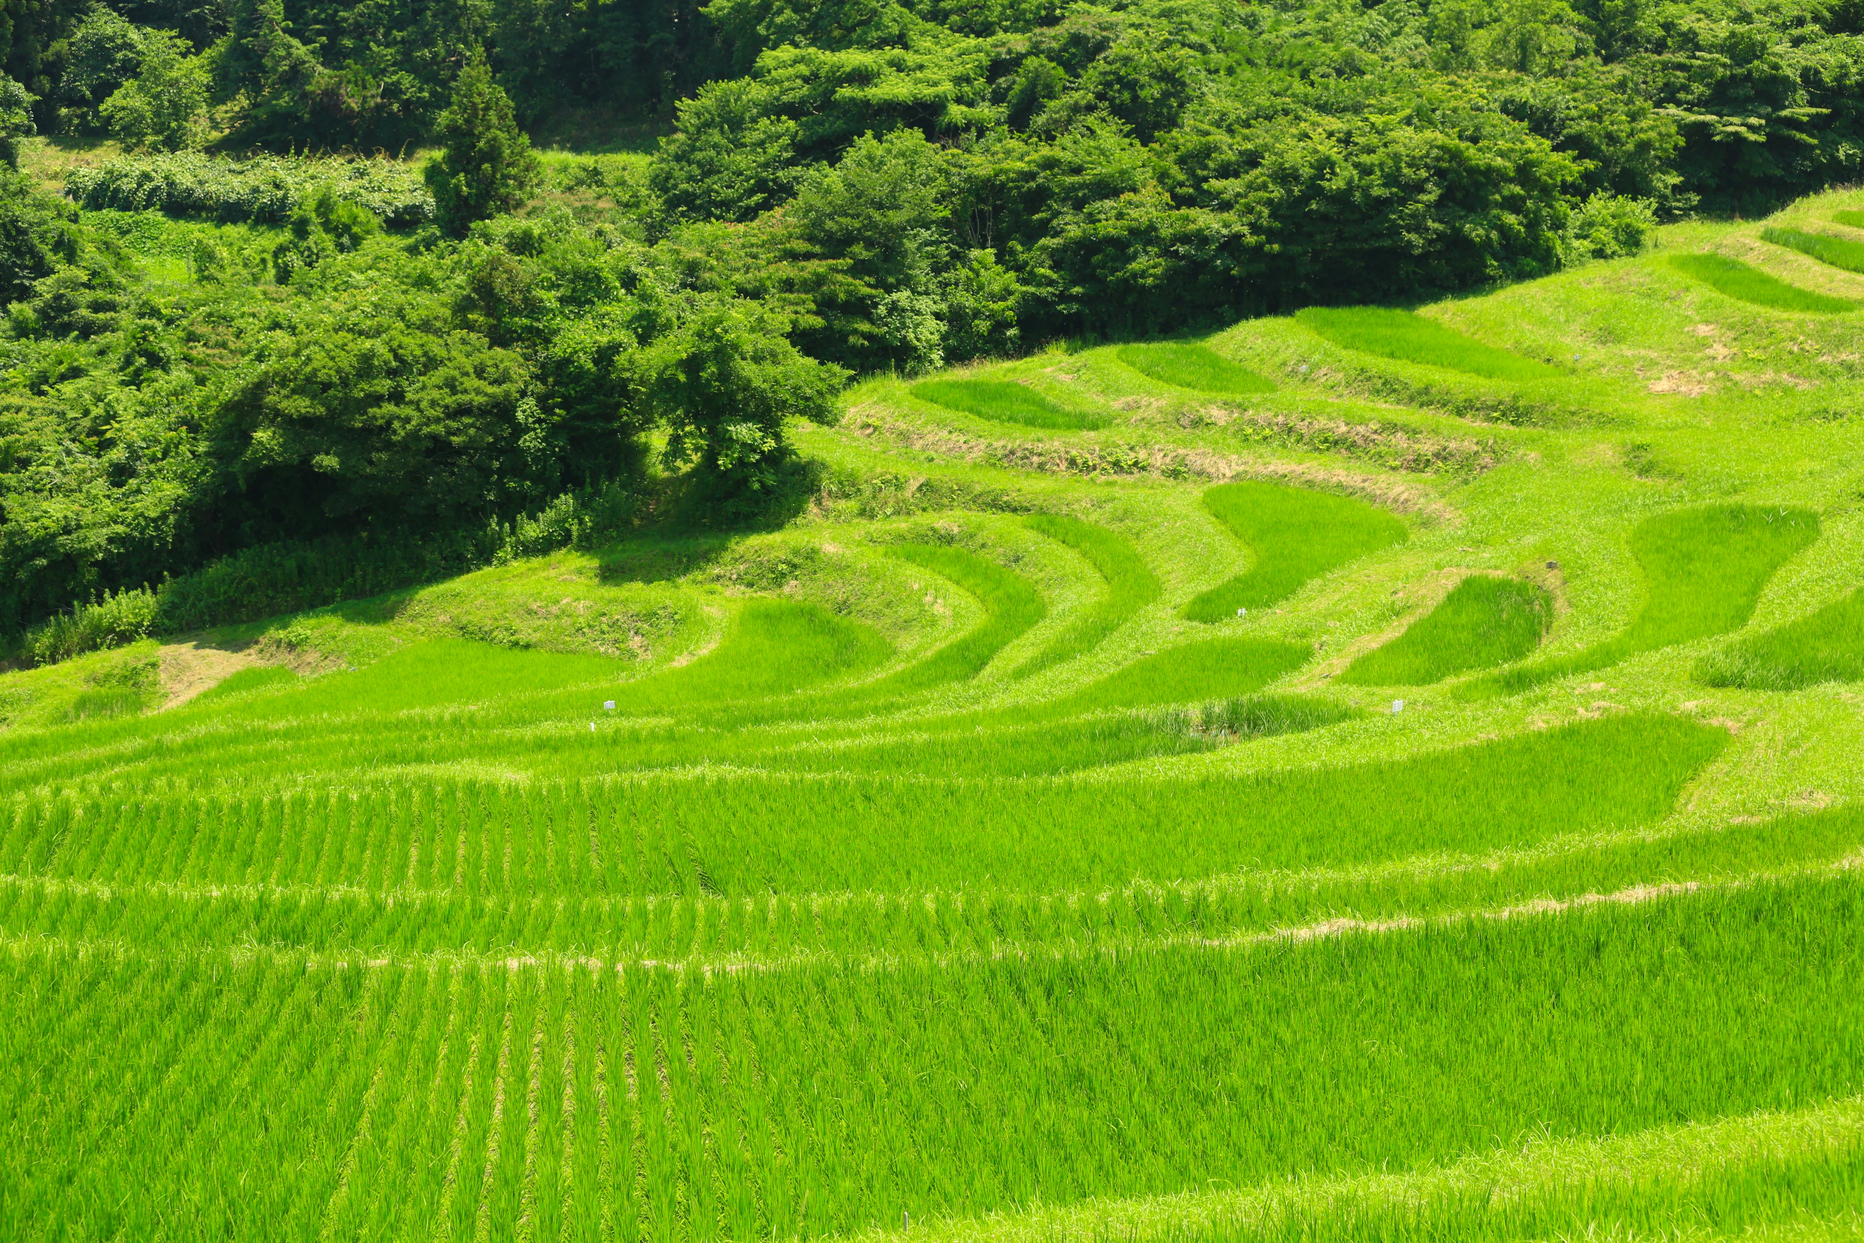
<path id="1" fill-rule="evenodd" d="M 1646 518 L 1631 531 L 1646 596 L 1629 628 L 1583 652 L 1491 675 L 1465 693 L 1514 693 L 1638 652 L 1739 630 L 1775 570 L 1817 537 L 1819 516 L 1804 509 L 1711 505 Z"/>

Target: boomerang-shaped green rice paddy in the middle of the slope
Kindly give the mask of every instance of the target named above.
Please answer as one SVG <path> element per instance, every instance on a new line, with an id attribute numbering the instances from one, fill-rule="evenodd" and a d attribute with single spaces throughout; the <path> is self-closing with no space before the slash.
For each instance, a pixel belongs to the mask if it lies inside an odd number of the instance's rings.
<path id="1" fill-rule="evenodd" d="M 1279 604 L 1309 580 L 1409 537 L 1404 522 L 1364 501 L 1279 483 L 1219 485 L 1204 492 L 1204 509 L 1249 546 L 1256 565 L 1184 606 L 1200 622 Z"/>

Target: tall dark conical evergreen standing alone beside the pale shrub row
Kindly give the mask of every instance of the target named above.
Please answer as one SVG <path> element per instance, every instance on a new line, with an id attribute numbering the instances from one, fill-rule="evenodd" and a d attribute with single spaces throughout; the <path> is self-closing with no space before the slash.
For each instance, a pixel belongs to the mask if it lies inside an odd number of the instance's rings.
<path id="1" fill-rule="evenodd" d="M 524 207 L 542 179 L 511 97 L 492 80 L 485 60 L 466 65 L 453 84 L 453 102 L 440 114 L 434 136 L 445 149 L 427 166 L 427 186 L 440 227 L 455 237 L 475 220 Z"/>

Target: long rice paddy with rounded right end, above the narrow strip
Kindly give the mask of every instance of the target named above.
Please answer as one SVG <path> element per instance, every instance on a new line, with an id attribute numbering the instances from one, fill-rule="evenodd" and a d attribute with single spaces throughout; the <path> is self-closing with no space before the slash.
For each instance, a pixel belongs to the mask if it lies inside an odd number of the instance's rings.
<path id="1" fill-rule="evenodd" d="M 1103 887 L 1527 846 L 1650 822 L 1726 738 L 1627 716 L 1249 777 L 716 772 L 598 786 L 436 781 L 356 794 L 21 799 L 0 826 L 0 872 L 473 895 Z"/>

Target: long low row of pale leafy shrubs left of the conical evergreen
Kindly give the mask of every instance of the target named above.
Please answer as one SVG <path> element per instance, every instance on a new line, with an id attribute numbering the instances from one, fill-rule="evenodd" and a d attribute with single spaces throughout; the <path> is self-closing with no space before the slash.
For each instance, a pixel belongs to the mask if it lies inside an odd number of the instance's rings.
<path id="1" fill-rule="evenodd" d="M 390 227 L 434 218 L 434 198 L 419 170 L 397 160 L 276 155 L 231 160 L 181 151 L 123 157 L 65 173 L 65 196 L 88 211 L 164 211 L 222 224 L 287 224 L 326 186 Z"/>

